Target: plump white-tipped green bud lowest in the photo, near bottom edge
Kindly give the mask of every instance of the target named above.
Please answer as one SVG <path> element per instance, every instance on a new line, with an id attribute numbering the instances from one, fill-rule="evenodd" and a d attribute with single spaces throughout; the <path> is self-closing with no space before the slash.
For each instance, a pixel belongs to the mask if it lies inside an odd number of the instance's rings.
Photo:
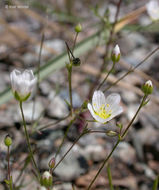
<path id="1" fill-rule="evenodd" d="M 50 172 L 45 171 L 41 177 L 41 185 L 45 186 L 46 188 L 51 187 L 53 183 L 53 177 Z"/>

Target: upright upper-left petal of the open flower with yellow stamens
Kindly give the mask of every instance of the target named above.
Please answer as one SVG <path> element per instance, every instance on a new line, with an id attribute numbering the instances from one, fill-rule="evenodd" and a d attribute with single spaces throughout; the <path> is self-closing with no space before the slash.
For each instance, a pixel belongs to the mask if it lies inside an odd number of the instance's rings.
<path id="1" fill-rule="evenodd" d="M 100 90 L 95 91 L 92 98 L 94 111 L 99 111 L 102 104 L 106 104 L 104 93 Z"/>

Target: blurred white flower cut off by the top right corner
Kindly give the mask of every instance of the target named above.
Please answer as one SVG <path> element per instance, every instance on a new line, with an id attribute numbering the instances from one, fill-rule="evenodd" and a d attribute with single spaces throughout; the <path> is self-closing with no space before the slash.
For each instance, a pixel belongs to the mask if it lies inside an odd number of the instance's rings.
<path id="1" fill-rule="evenodd" d="M 146 9 L 149 16 L 153 20 L 159 19 L 159 2 L 157 0 L 151 0 L 146 4 Z"/>

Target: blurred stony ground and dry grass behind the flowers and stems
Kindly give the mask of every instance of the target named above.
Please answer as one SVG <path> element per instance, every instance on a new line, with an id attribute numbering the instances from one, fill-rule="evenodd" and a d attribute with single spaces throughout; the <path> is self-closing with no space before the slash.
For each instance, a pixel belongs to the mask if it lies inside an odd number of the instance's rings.
<path id="1" fill-rule="evenodd" d="M 80 108 L 91 101 L 90 89 L 106 59 L 100 81 L 112 67 L 110 54 L 119 44 L 121 60 L 101 90 L 109 87 L 130 68 L 146 58 L 159 43 L 159 22 L 152 21 L 146 11 L 147 0 L 3 0 L 0 2 L 0 189 L 5 190 L 7 176 L 6 134 L 13 138 L 11 170 L 16 189 L 36 189 L 24 138 L 18 103 L 10 91 L 9 73 L 13 69 L 39 71 L 40 84 L 36 96 L 24 103 L 24 113 L 31 136 L 35 158 L 41 172 L 55 156 L 70 125 L 68 62 L 65 42 L 73 47 L 74 27 L 81 23 L 74 55 L 81 65 L 72 72 L 73 107 Z M 119 7 L 120 6 L 120 7 Z M 112 25 L 115 15 L 120 22 Z M 112 39 L 110 40 L 111 32 Z M 43 42 L 43 43 L 42 43 Z M 42 51 L 40 54 L 40 47 Z M 109 44 L 109 47 L 108 47 Z M 105 57 L 108 51 L 107 57 Z M 117 130 L 130 122 L 140 104 L 141 85 L 152 80 L 154 92 L 150 101 L 133 123 L 125 141 L 121 142 L 110 159 L 113 185 L 121 190 L 150 190 L 159 173 L 159 56 L 156 51 L 140 67 L 110 88 L 105 94 L 121 95 L 124 113 L 107 125 L 91 122 L 95 130 Z M 40 68 L 40 70 L 39 70 Z M 100 82 L 98 81 L 98 82 Z M 64 119 L 67 117 L 66 119 Z M 84 112 L 71 125 L 65 143 L 57 156 L 59 160 L 78 138 L 84 119 L 92 119 Z M 82 137 L 54 172 L 57 190 L 86 189 L 117 137 L 92 133 Z M 25 169 L 25 171 L 24 171 Z M 108 190 L 106 167 L 92 189 Z"/>

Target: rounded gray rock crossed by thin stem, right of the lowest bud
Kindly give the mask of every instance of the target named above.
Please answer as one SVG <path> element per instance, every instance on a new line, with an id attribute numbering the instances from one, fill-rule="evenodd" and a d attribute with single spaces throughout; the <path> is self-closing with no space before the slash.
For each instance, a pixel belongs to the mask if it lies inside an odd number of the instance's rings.
<path id="1" fill-rule="evenodd" d="M 66 153 L 70 146 L 71 144 L 67 143 L 62 147 L 60 154 L 57 156 L 57 162 Z M 54 172 L 61 180 L 71 181 L 87 172 L 87 170 L 88 164 L 81 153 L 81 148 L 78 145 L 75 145 Z"/>

